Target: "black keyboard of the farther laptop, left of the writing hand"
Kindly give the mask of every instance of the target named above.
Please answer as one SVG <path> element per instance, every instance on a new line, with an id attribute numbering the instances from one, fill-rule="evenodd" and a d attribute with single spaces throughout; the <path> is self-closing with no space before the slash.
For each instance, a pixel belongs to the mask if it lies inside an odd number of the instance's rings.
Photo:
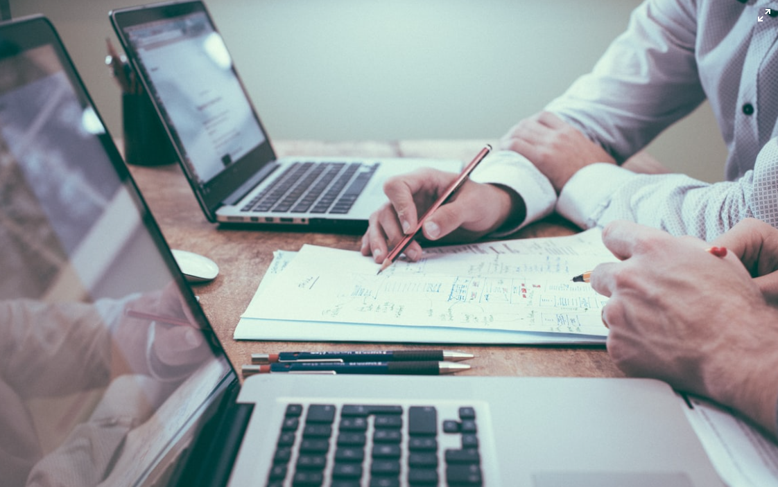
<path id="1" fill-rule="evenodd" d="M 361 162 L 295 162 L 242 210 L 346 214 L 378 166 Z"/>

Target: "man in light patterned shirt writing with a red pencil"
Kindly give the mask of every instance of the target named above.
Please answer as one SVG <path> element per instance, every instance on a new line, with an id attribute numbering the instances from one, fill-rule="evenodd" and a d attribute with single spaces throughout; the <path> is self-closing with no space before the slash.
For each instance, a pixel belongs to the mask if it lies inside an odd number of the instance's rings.
<path id="1" fill-rule="evenodd" d="M 501 141 L 505 150 L 486 158 L 456 200 L 426 221 L 424 236 L 507 234 L 552 210 L 581 228 L 627 219 L 706 240 L 744 217 L 778 226 L 778 10 L 768 15 L 766 6 L 643 2 L 594 70 L 517 123 Z M 636 174 L 616 164 L 704 99 L 729 150 L 727 181 Z M 387 183 L 390 203 L 370 218 L 363 255 L 380 263 L 453 179 L 422 170 Z M 419 244 L 405 255 L 418 259 Z"/>

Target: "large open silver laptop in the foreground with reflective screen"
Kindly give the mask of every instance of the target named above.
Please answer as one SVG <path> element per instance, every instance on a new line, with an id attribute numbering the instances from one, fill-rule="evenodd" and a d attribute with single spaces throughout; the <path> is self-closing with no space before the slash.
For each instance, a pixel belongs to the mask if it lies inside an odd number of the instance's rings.
<path id="1" fill-rule="evenodd" d="M 723 485 L 647 379 L 243 384 L 51 23 L 0 24 L 2 485 Z"/>

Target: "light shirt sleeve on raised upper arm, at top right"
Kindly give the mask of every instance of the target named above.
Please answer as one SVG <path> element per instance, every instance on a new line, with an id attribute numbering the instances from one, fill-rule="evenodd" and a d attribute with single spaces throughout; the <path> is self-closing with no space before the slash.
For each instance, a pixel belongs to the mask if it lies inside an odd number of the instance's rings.
<path id="1" fill-rule="evenodd" d="M 705 99 L 691 0 L 648 0 L 595 64 L 545 110 L 598 142 L 619 164 Z"/>

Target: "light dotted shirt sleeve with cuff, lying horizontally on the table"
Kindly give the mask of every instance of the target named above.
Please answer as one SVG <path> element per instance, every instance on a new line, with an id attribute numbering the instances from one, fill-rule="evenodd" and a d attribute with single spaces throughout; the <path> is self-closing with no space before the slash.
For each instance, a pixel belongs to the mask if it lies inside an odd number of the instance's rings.
<path id="1" fill-rule="evenodd" d="M 581 169 L 562 188 L 556 210 L 581 228 L 631 220 L 673 235 L 711 240 L 746 217 L 778 228 L 778 137 L 759 151 L 752 171 L 732 182 L 703 183 L 681 174 L 636 174 L 612 164 Z"/>

